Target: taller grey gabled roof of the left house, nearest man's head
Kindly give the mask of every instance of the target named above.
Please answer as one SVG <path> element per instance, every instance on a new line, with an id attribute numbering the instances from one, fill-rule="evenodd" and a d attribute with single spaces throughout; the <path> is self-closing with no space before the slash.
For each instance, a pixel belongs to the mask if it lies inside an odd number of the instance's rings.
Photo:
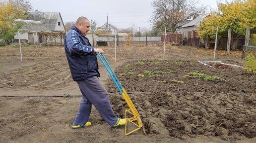
<path id="1" fill-rule="evenodd" d="M 55 31 L 59 16 L 62 19 L 60 12 L 28 12 L 28 20 L 40 21 L 51 31 Z M 62 19 L 63 23 L 63 19 Z M 63 23 L 64 24 L 64 23 Z"/>

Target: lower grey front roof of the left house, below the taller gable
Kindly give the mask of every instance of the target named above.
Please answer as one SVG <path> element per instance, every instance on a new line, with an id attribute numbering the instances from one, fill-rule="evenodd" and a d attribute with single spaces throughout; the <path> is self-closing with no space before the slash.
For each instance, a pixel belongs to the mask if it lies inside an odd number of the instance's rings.
<path id="1" fill-rule="evenodd" d="M 21 29 L 29 32 L 51 32 L 47 27 L 45 27 L 40 21 L 34 20 L 23 20 L 17 19 L 16 21 L 22 22 Z"/>

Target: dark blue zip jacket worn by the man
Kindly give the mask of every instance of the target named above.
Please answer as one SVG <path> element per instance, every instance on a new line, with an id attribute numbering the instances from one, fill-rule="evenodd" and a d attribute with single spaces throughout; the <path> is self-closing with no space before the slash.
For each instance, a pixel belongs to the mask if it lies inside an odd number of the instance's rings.
<path id="1" fill-rule="evenodd" d="M 100 76 L 94 48 L 87 37 L 72 26 L 64 38 L 64 47 L 73 80 L 83 80 L 91 76 Z"/>

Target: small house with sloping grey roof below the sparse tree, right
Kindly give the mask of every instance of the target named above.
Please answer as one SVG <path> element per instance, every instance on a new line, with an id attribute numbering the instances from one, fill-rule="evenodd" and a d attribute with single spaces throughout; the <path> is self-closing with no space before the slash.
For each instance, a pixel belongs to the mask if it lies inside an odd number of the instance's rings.
<path id="1" fill-rule="evenodd" d="M 190 22 L 184 24 L 179 28 L 181 34 L 185 38 L 198 38 L 196 30 L 200 27 L 201 22 L 207 17 L 209 14 L 199 15 L 195 19 L 191 20 Z"/>

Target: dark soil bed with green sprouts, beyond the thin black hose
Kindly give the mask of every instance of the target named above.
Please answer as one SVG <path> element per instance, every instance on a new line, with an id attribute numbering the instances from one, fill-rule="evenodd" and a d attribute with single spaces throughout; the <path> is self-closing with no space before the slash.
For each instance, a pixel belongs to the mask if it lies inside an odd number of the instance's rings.
<path id="1" fill-rule="evenodd" d="M 116 71 L 130 92 L 256 93 L 255 75 L 235 67 L 213 69 L 192 60 L 132 61 Z M 116 92 L 114 84 L 109 92 Z"/>

